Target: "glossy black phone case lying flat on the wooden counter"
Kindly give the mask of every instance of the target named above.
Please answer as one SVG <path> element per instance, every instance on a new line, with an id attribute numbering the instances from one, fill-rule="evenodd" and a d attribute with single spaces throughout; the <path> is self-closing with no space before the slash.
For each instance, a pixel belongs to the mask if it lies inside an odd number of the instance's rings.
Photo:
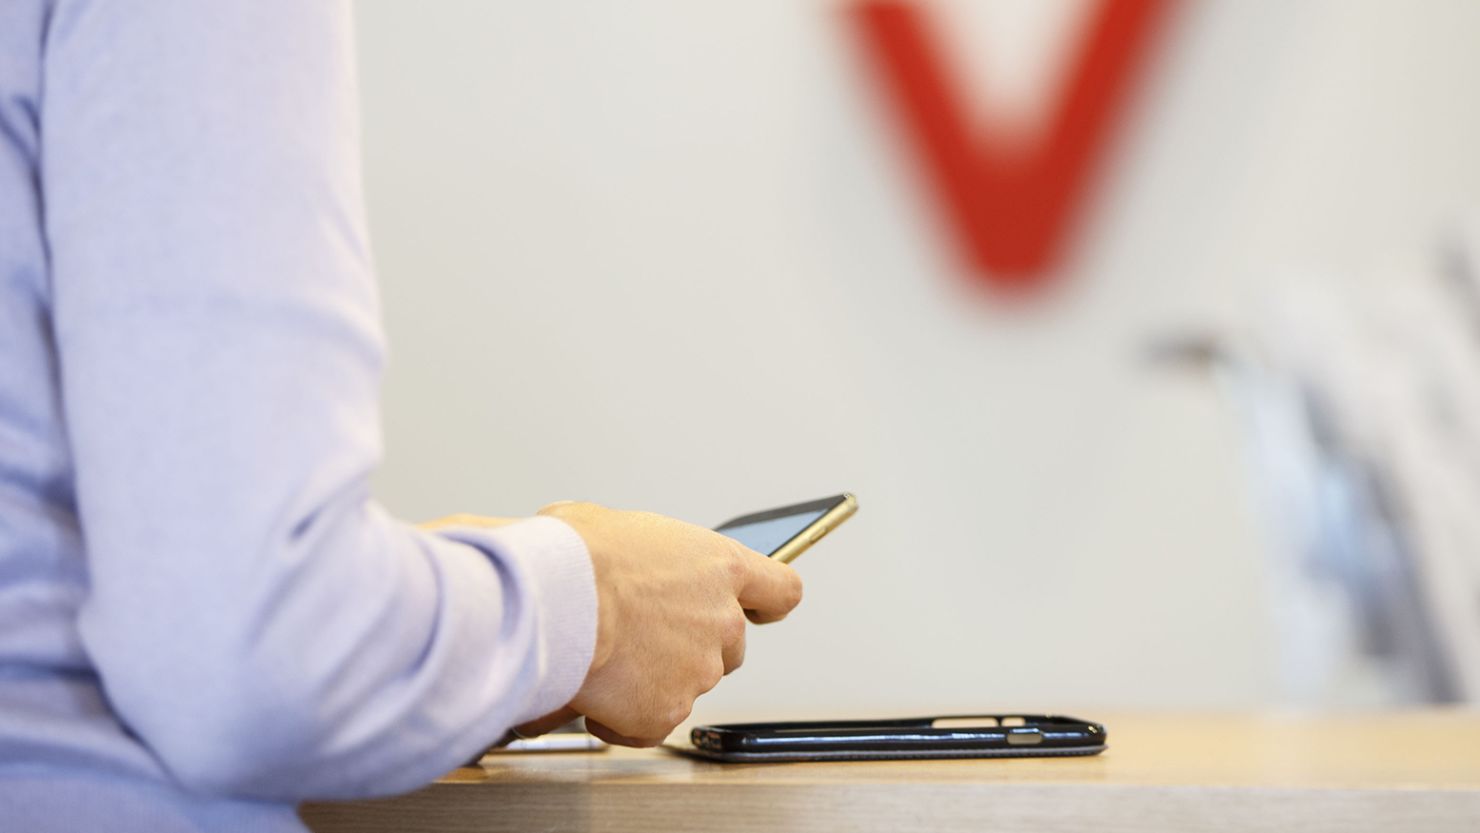
<path id="1" fill-rule="evenodd" d="M 1098 755 L 1106 737 L 1103 725 L 1061 715 L 804 721 L 697 726 L 685 752 L 734 762 L 1045 758 Z"/>

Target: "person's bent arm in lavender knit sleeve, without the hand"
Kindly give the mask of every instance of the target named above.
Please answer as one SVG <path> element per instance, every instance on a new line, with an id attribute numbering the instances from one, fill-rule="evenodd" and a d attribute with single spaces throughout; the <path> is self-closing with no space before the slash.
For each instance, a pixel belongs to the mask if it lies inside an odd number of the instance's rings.
<path id="1" fill-rule="evenodd" d="M 592 658 L 570 527 L 429 534 L 370 500 L 351 36 L 320 0 L 59 0 L 49 22 L 80 630 L 120 719 L 198 792 L 419 786 L 565 706 Z"/>

